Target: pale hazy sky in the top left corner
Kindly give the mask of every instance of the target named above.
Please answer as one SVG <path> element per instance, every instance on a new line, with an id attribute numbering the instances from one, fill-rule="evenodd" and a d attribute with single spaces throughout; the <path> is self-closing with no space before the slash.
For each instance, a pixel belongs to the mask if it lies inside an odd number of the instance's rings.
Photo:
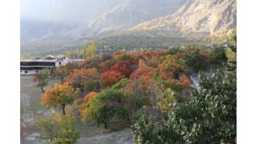
<path id="1" fill-rule="evenodd" d="M 67 16 L 79 18 L 99 1 L 104 0 L 21 0 L 20 18 L 42 21 L 63 21 Z"/>

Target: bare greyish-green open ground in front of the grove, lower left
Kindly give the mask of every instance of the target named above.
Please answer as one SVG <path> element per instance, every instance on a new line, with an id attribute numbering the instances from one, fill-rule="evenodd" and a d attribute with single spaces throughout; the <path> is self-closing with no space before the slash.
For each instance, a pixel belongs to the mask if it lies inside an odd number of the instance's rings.
<path id="1" fill-rule="evenodd" d="M 58 81 L 50 81 L 49 86 Z M 44 88 L 46 89 L 46 88 Z M 40 87 L 32 82 L 32 75 L 20 75 L 20 142 L 21 143 L 44 143 L 34 139 L 40 131 L 36 129 L 36 115 L 49 115 L 59 108 L 47 108 L 40 104 L 43 92 Z M 116 122 L 115 118 L 109 123 L 109 129 L 99 128 L 93 122 L 81 123 L 78 115 L 79 106 L 74 101 L 74 105 L 67 105 L 66 111 L 77 117 L 78 127 L 81 132 L 81 139 L 78 143 L 133 143 L 130 126 L 126 122 Z"/>

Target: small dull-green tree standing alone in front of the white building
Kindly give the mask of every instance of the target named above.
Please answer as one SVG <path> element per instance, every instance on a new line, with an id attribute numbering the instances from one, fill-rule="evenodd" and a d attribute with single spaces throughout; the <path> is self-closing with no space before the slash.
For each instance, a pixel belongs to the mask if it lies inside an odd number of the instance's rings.
<path id="1" fill-rule="evenodd" d="M 36 86 L 41 87 L 43 91 L 43 87 L 47 86 L 49 79 L 48 70 L 41 70 L 40 73 L 33 74 L 33 82 L 37 82 Z"/>

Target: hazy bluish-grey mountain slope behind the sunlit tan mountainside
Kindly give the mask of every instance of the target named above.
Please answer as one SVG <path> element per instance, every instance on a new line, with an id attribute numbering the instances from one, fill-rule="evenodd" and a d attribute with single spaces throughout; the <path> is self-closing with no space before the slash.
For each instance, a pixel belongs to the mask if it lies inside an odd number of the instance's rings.
<path id="1" fill-rule="evenodd" d="M 85 26 L 87 34 L 102 34 L 120 31 L 140 22 L 146 22 L 176 12 L 186 0 L 124 0 L 119 1 L 108 12 Z"/>

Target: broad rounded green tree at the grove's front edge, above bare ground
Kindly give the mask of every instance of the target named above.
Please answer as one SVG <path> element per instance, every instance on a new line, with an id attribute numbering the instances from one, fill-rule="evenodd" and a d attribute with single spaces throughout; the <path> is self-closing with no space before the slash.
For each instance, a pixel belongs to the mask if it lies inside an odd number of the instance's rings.
<path id="1" fill-rule="evenodd" d="M 109 128 L 109 121 L 116 115 L 117 118 L 130 121 L 130 107 L 134 104 L 133 94 L 124 94 L 116 89 L 107 89 L 90 98 L 85 111 L 81 115 L 84 121 L 92 118 L 97 125 L 104 124 Z M 136 102 L 135 102 L 136 104 Z"/>

